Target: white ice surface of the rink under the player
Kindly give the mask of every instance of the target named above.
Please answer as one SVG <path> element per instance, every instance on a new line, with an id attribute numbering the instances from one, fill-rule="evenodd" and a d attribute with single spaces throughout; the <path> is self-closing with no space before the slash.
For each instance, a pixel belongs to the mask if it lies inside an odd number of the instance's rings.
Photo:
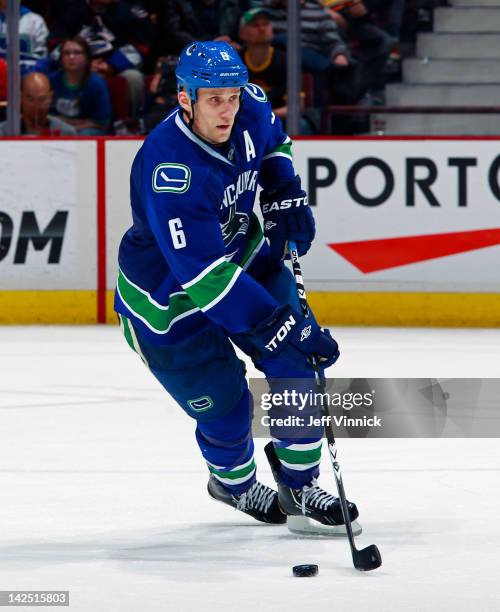
<path id="1" fill-rule="evenodd" d="M 500 376 L 500 330 L 335 335 L 339 377 Z M 339 440 L 358 546 L 383 557 L 363 574 L 345 540 L 211 501 L 193 422 L 117 328 L 4 327 L 0 347 L 0 590 L 70 590 L 78 611 L 500 610 L 498 440 Z"/>

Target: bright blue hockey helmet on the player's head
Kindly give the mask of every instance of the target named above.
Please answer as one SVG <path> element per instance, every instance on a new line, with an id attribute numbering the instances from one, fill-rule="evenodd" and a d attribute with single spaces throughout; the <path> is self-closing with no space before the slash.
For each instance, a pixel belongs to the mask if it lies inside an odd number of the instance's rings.
<path id="1" fill-rule="evenodd" d="M 194 42 L 185 47 L 175 71 L 177 88 L 196 102 L 200 87 L 245 87 L 248 70 L 226 42 Z"/>

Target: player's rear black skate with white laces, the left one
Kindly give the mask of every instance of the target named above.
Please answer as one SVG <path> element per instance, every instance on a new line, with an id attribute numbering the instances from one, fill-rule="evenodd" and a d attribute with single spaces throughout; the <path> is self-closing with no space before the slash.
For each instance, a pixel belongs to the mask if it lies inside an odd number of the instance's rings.
<path id="1" fill-rule="evenodd" d="M 286 515 L 278 503 L 278 493 L 261 482 L 255 482 L 248 491 L 241 495 L 233 495 L 215 478 L 210 476 L 208 494 L 213 499 L 241 510 L 262 523 L 283 525 Z"/>

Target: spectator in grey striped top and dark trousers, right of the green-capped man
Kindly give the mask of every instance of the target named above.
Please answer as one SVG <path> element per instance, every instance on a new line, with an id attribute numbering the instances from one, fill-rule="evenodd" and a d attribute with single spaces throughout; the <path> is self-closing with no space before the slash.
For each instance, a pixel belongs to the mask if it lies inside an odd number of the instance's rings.
<path id="1" fill-rule="evenodd" d="M 270 11 L 277 46 L 286 46 L 287 0 L 254 0 L 255 7 Z M 325 90 L 336 102 L 350 104 L 357 100 L 359 70 L 338 25 L 319 0 L 301 0 L 302 69 L 316 75 L 317 102 L 325 103 Z"/>

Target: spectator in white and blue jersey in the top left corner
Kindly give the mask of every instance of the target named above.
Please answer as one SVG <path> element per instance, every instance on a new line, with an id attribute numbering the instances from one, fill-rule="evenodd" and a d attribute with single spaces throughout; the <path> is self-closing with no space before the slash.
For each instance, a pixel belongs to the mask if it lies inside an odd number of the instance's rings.
<path id="1" fill-rule="evenodd" d="M 5 12 L 8 0 L 0 0 L 0 57 L 7 56 L 7 21 Z M 49 30 L 41 15 L 21 5 L 19 15 L 20 61 L 23 74 L 34 70 L 37 62 L 47 57 Z"/>

